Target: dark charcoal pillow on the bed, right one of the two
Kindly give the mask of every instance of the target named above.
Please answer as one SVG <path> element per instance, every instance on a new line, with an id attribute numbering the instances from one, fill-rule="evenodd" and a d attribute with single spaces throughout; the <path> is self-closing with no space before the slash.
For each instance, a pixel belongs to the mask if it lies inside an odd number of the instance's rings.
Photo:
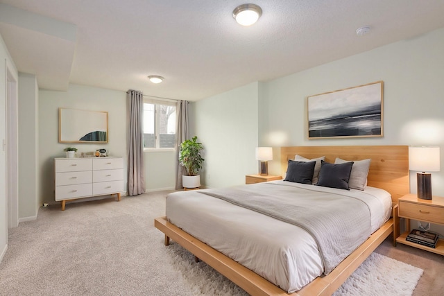
<path id="1" fill-rule="evenodd" d="M 348 179 L 352 171 L 353 162 L 343 164 L 329 164 L 321 160 L 321 171 L 316 185 L 350 190 Z"/>

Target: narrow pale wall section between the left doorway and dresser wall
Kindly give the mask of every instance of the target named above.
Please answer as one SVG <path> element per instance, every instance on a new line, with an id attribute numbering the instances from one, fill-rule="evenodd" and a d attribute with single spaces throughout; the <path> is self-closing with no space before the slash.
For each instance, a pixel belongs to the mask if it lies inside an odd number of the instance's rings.
<path id="1" fill-rule="evenodd" d="M 35 75 L 19 73 L 19 221 L 37 218 L 39 184 L 38 86 Z"/>

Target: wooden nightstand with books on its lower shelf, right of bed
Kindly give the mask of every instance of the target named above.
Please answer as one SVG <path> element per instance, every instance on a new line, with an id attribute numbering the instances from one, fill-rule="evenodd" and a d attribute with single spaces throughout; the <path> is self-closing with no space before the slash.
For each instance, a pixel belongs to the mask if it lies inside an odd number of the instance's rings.
<path id="1" fill-rule="evenodd" d="M 438 241 L 436 248 L 405 240 L 410 232 L 410 219 L 444 225 L 444 198 L 434 196 L 432 200 L 421 200 L 416 194 L 404 195 L 398 200 L 398 216 L 405 218 L 407 231 L 396 238 L 397 243 L 444 255 L 442 239 Z"/>

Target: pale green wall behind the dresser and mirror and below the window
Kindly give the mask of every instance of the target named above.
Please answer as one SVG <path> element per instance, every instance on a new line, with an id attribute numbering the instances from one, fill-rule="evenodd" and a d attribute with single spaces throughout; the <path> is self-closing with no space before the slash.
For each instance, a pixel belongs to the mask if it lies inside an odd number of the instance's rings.
<path id="1" fill-rule="evenodd" d="M 58 143 L 58 108 L 108 112 L 108 143 Z M 112 156 L 121 156 L 127 166 L 126 92 L 84 85 L 69 85 L 67 92 L 41 89 L 40 116 L 40 204 L 54 202 L 54 157 L 65 157 L 68 146 L 82 152 L 105 148 Z M 172 152 L 144 153 L 146 191 L 174 189 L 176 156 Z M 127 176 L 125 175 L 125 180 Z M 126 181 L 125 181 L 126 184 Z"/>

